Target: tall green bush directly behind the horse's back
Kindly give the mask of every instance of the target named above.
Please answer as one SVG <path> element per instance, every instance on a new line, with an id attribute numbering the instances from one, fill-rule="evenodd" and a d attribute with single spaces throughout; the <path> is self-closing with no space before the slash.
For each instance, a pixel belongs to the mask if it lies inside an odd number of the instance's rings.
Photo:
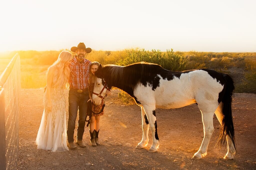
<path id="1" fill-rule="evenodd" d="M 127 51 L 126 57 L 120 59 L 116 64 L 126 66 L 137 62 L 158 64 L 172 71 L 182 71 L 186 67 L 184 58 L 180 54 L 174 54 L 173 49 L 167 50 L 166 53 L 162 53 L 160 50 L 150 52 L 144 49 Z"/>

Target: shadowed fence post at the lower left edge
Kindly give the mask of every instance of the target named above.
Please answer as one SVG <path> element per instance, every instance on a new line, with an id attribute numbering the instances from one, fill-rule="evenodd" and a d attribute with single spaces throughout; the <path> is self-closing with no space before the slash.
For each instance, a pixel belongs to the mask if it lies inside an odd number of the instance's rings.
<path id="1" fill-rule="evenodd" d="M 0 169 L 6 169 L 5 159 L 5 105 L 4 89 L 0 86 Z"/>

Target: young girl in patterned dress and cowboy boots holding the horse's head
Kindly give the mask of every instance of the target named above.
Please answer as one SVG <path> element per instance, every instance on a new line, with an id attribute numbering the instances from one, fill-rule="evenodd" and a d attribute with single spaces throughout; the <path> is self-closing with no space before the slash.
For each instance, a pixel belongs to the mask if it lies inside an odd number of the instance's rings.
<path id="1" fill-rule="evenodd" d="M 89 100 L 92 101 L 92 92 L 93 92 L 93 88 L 94 88 L 94 82 L 95 82 L 95 72 L 98 70 L 100 66 L 100 63 L 98 62 L 93 62 L 90 65 L 90 78 L 89 78 Z M 107 95 L 111 95 L 111 92 L 109 90 L 106 91 Z M 88 101 L 89 101 L 88 100 Z M 101 111 L 101 108 L 104 104 L 104 100 L 102 99 L 101 104 L 100 105 L 94 105 L 92 103 L 92 111 L 94 113 L 99 113 Z M 100 144 L 99 141 L 99 131 L 100 131 L 100 116 L 102 116 L 104 114 L 104 110 L 103 112 L 101 112 L 100 114 L 94 115 L 92 113 L 92 117 L 90 120 L 90 124 L 89 124 L 89 132 L 90 132 L 90 136 L 91 136 L 91 145 L 92 146 L 97 146 Z"/>

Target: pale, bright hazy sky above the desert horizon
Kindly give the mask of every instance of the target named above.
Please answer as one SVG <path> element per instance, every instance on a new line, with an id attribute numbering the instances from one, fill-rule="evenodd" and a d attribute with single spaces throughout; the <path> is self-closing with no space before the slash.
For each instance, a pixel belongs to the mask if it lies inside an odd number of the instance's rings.
<path id="1" fill-rule="evenodd" d="M 256 1 L 97 0 L 0 3 L 0 52 L 129 48 L 256 52 Z"/>

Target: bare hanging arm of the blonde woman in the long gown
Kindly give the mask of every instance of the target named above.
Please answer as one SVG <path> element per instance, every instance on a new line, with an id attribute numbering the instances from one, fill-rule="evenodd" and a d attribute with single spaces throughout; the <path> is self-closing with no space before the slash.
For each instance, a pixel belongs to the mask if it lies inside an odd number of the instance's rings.
<path id="1" fill-rule="evenodd" d="M 51 83 L 52 83 L 52 78 L 55 72 L 55 68 L 50 67 L 47 73 L 47 79 L 46 79 L 46 96 L 47 96 L 47 105 L 46 105 L 46 109 L 48 110 L 48 112 L 51 111 Z"/>

